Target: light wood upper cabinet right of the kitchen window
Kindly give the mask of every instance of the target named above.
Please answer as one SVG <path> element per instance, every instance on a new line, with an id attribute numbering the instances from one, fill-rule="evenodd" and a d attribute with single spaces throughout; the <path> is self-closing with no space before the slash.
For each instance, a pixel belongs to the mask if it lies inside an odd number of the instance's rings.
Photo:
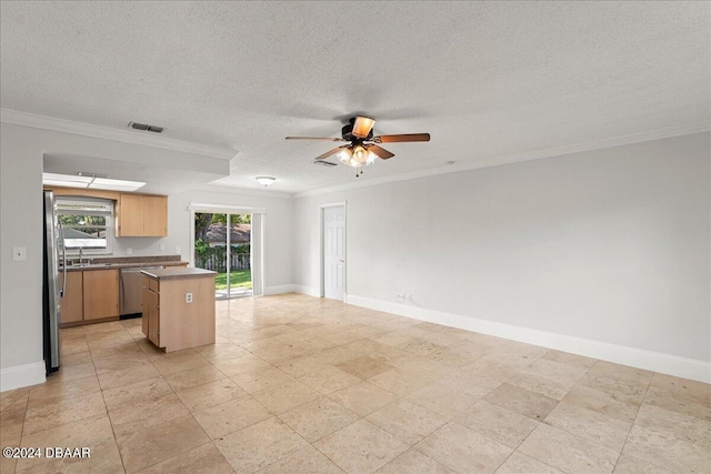
<path id="1" fill-rule="evenodd" d="M 167 236 L 168 198 L 121 194 L 118 202 L 117 236 Z"/>

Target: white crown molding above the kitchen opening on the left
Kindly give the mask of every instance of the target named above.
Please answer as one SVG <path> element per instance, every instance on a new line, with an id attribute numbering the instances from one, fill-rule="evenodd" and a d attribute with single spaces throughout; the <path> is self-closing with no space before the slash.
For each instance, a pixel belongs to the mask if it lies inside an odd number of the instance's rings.
<path id="1" fill-rule="evenodd" d="M 234 150 L 190 143 L 164 137 L 149 135 L 144 132 L 112 129 L 103 125 L 92 125 L 90 123 L 73 122 L 71 120 L 56 119 L 53 117 L 38 115 L 11 109 L 0 109 L 0 121 L 14 125 L 31 127 L 34 129 L 51 130 L 53 132 L 71 133 L 74 135 L 161 148 L 183 153 L 218 158 L 221 160 L 231 160 L 238 153 Z"/>

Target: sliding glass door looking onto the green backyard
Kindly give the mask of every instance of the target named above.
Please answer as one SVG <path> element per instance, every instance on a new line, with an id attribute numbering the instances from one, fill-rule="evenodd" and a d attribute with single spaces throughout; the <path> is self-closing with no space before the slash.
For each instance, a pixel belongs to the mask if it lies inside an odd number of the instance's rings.
<path id="1" fill-rule="evenodd" d="M 194 265 L 218 272 L 217 299 L 252 294 L 251 214 L 194 214 Z"/>

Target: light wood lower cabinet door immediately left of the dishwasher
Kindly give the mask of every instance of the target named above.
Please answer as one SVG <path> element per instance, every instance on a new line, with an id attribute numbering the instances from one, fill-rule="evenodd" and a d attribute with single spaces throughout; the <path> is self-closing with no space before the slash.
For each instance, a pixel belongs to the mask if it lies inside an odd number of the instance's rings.
<path id="1" fill-rule="evenodd" d="M 119 271 L 83 272 L 84 321 L 119 317 Z"/>

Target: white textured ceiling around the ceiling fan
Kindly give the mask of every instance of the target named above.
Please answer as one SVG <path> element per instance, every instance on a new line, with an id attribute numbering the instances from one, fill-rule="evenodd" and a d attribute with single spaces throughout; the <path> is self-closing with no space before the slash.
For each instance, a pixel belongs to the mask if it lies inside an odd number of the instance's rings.
<path id="1" fill-rule="evenodd" d="M 357 112 L 394 143 L 359 181 L 710 118 L 708 2 L 1 2 L 1 105 L 239 150 L 222 185 L 356 180 L 312 158 Z M 703 127 L 703 125 L 701 125 Z M 100 170 L 97 170 L 100 172 Z"/>

